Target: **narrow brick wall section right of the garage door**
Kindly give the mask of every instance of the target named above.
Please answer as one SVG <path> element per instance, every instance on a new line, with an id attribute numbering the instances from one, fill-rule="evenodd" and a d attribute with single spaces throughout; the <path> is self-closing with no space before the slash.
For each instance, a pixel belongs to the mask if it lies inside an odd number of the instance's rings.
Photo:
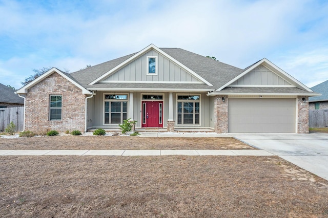
<path id="1" fill-rule="evenodd" d="M 303 101 L 303 98 L 305 98 L 306 102 Z M 309 97 L 298 96 L 297 107 L 298 107 L 297 133 L 309 133 Z"/>

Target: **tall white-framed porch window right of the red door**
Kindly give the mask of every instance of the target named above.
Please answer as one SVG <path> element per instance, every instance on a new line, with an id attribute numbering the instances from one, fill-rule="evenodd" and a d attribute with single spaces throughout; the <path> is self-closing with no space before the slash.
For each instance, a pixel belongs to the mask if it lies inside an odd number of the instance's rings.
<path id="1" fill-rule="evenodd" d="M 177 124 L 200 124 L 200 95 L 177 95 Z"/>

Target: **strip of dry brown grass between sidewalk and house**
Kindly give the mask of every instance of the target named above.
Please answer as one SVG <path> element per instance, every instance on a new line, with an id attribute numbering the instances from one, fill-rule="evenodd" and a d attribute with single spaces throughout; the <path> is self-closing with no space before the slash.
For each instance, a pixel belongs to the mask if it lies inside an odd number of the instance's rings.
<path id="1" fill-rule="evenodd" d="M 254 149 L 234 138 L 50 136 L 0 139 L 0 149 Z"/>

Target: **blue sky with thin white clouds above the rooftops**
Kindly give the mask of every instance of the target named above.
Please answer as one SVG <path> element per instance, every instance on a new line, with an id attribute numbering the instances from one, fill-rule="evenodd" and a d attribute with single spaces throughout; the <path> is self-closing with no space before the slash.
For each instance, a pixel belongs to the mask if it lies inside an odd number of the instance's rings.
<path id="1" fill-rule="evenodd" d="M 3 1 L 0 83 L 70 72 L 151 43 L 246 68 L 267 58 L 310 88 L 328 80 L 328 1 Z"/>

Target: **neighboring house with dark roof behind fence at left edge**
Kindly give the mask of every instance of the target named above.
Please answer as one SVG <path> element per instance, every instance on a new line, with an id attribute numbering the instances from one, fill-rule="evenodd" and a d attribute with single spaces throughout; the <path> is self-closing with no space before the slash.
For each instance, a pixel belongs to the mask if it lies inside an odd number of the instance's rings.
<path id="1" fill-rule="evenodd" d="M 24 99 L 19 98 L 15 91 L 0 83 L 0 108 L 24 106 Z"/>

